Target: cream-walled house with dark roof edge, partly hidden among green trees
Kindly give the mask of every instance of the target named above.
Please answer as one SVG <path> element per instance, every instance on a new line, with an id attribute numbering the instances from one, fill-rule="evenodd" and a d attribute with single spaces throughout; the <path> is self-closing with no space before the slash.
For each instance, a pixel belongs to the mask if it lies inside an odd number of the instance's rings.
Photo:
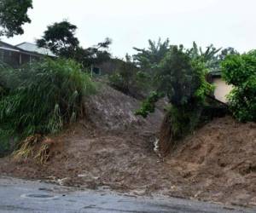
<path id="1" fill-rule="evenodd" d="M 228 95 L 233 89 L 232 86 L 227 84 L 224 79 L 221 78 L 221 72 L 219 71 L 210 72 L 208 78 L 208 81 L 215 86 L 214 97 L 218 101 L 227 103 L 228 101 L 226 95 Z"/>

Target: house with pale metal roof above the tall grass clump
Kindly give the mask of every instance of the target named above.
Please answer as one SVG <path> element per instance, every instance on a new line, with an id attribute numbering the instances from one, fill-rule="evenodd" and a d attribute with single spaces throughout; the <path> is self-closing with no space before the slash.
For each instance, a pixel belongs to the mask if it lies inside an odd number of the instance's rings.
<path id="1" fill-rule="evenodd" d="M 50 52 L 45 52 L 44 49 L 38 49 L 33 43 L 20 43 L 15 46 L 0 41 L 0 60 L 14 68 L 30 63 L 32 60 L 39 60 L 45 55 L 54 56 Z"/>

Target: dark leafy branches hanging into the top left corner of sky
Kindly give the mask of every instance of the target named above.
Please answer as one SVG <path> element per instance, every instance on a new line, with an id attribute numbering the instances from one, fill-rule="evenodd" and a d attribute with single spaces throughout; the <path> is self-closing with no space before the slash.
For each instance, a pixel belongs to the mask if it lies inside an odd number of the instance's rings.
<path id="1" fill-rule="evenodd" d="M 22 26 L 31 23 L 27 10 L 32 9 L 32 0 L 0 1 L 0 36 L 13 37 L 24 33 Z"/>

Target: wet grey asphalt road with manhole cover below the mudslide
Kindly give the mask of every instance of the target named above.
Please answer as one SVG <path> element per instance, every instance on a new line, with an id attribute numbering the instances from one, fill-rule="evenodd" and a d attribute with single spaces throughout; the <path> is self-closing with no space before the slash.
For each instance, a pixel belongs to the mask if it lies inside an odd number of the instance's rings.
<path id="1" fill-rule="evenodd" d="M 77 191 L 39 181 L 21 181 L 0 177 L 0 212 L 255 213 L 256 209 L 185 199 L 132 197 L 106 190 Z"/>

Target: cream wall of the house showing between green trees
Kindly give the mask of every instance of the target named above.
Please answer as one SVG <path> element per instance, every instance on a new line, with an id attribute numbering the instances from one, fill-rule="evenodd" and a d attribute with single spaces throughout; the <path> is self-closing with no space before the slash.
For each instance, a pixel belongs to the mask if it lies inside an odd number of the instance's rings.
<path id="1" fill-rule="evenodd" d="M 222 78 L 213 78 L 213 84 L 215 85 L 215 98 L 226 103 L 226 95 L 230 93 L 232 86 L 225 83 Z"/>

